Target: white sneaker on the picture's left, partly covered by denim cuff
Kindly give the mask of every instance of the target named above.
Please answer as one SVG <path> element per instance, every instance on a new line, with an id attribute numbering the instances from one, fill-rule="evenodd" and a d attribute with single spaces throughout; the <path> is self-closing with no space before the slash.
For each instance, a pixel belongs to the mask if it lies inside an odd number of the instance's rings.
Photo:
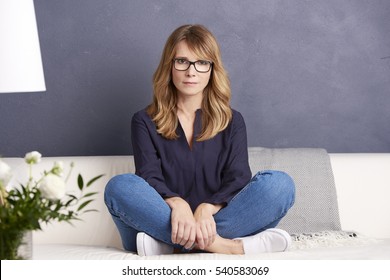
<path id="1" fill-rule="evenodd" d="M 173 253 L 173 247 L 144 232 L 139 232 L 137 234 L 137 252 L 139 256 L 166 255 Z"/>

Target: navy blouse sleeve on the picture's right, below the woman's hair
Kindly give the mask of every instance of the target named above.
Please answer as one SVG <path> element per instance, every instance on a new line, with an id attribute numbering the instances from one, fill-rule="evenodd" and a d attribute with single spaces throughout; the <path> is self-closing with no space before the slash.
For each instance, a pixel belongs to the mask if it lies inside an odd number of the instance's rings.
<path id="1" fill-rule="evenodd" d="M 227 204 L 250 181 L 252 174 L 248 162 L 248 144 L 245 121 L 242 115 L 235 111 L 232 121 L 231 141 L 228 159 L 222 169 L 222 184 L 220 191 L 206 202 L 212 204 Z"/>

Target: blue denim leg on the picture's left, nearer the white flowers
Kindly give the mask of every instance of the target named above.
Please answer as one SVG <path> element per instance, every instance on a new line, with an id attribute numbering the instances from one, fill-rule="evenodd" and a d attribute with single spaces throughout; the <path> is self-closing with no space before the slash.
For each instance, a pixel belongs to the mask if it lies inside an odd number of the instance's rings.
<path id="1" fill-rule="evenodd" d="M 171 209 L 144 179 L 134 174 L 113 177 L 105 188 L 104 201 L 118 228 L 124 249 L 137 251 L 138 232 L 146 232 L 173 246 Z"/>

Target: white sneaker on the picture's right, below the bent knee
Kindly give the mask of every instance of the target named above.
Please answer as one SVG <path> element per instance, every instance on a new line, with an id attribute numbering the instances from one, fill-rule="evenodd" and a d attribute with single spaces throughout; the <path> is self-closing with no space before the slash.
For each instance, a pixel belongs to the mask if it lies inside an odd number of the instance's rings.
<path id="1" fill-rule="evenodd" d="M 291 236 L 284 230 L 270 228 L 242 240 L 244 254 L 283 252 L 291 245 Z"/>

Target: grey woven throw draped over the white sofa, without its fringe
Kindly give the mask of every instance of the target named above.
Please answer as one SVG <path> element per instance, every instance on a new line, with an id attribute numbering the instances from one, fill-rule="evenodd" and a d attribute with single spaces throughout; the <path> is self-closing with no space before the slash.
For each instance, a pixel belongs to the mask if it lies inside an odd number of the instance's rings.
<path id="1" fill-rule="evenodd" d="M 324 149 L 249 148 L 252 174 L 281 170 L 295 182 L 295 204 L 278 227 L 289 233 L 340 230 L 336 187 L 330 158 Z"/>

